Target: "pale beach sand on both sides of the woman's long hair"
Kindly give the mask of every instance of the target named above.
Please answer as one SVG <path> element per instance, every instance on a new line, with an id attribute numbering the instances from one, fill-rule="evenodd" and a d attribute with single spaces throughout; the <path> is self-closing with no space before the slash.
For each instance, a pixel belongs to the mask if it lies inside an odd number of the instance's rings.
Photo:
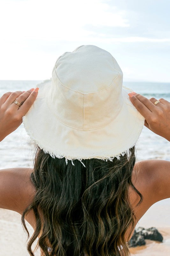
<path id="1" fill-rule="evenodd" d="M 146 240 L 146 245 L 131 248 L 132 256 L 170 255 L 170 198 L 150 207 L 139 220 L 138 227 L 156 227 L 163 235 L 163 242 Z M 21 215 L 10 210 L 0 209 L 0 256 L 29 256 L 26 250 L 26 234 L 20 221 Z M 33 232 L 27 223 L 29 231 Z M 40 255 L 39 252 L 35 254 Z"/>

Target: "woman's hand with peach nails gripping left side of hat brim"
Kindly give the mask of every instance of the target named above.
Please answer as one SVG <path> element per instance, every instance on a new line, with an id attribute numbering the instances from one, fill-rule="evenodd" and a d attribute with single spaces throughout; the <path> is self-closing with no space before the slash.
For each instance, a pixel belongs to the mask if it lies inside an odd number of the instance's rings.
<path id="1" fill-rule="evenodd" d="M 6 92 L 2 95 L 0 98 L 0 141 L 22 123 L 22 117 L 31 108 L 38 95 L 38 89 L 32 88 L 26 92 Z M 21 107 L 15 104 L 14 100 L 18 101 Z"/>

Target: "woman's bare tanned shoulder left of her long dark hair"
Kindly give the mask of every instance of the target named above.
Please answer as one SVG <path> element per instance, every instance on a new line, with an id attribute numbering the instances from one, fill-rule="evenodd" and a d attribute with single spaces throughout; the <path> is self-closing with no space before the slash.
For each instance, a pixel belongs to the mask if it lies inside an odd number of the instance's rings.
<path id="1" fill-rule="evenodd" d="M 0 170 L 0 208 L 21 213 L 31 203 L 35 188 L 30 180 L 32 168 Z"/>

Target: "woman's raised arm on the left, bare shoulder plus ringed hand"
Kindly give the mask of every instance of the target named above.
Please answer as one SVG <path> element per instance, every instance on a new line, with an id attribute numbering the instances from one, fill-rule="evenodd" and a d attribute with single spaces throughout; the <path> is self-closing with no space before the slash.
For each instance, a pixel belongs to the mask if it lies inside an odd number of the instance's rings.
<path id="1" fill-rule="evenodd" d="M 6 92 L 0 98 L 0 141 L 15 131 L 22 123 L 22 117 L 32 106 L 38 89 Z M 15 104 L 13 101 L 19 103 Z M 22 212 L 34 193 L 29 180 L 30 168 L 0 170 L 0 208 Z"/>

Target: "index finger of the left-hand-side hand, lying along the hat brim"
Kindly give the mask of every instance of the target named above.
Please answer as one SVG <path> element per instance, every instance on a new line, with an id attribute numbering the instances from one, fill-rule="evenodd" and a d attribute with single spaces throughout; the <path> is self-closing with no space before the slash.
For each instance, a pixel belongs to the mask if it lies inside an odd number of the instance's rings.
<path id="1" fill-rule="evenodd" d="M 28 110 L 31 108 L 33 105 L 33 102 L 35 101 L 37 95 L 38 95 L 38 90 L 39 88 L 35 88 L 33 92 L 29 95 L 29 97 L 24 101 L 22 104 L 22 107 L 18 109 L 18 114 L 21 116 L 25 116 L 25 114 L 28 112 Z"/>

